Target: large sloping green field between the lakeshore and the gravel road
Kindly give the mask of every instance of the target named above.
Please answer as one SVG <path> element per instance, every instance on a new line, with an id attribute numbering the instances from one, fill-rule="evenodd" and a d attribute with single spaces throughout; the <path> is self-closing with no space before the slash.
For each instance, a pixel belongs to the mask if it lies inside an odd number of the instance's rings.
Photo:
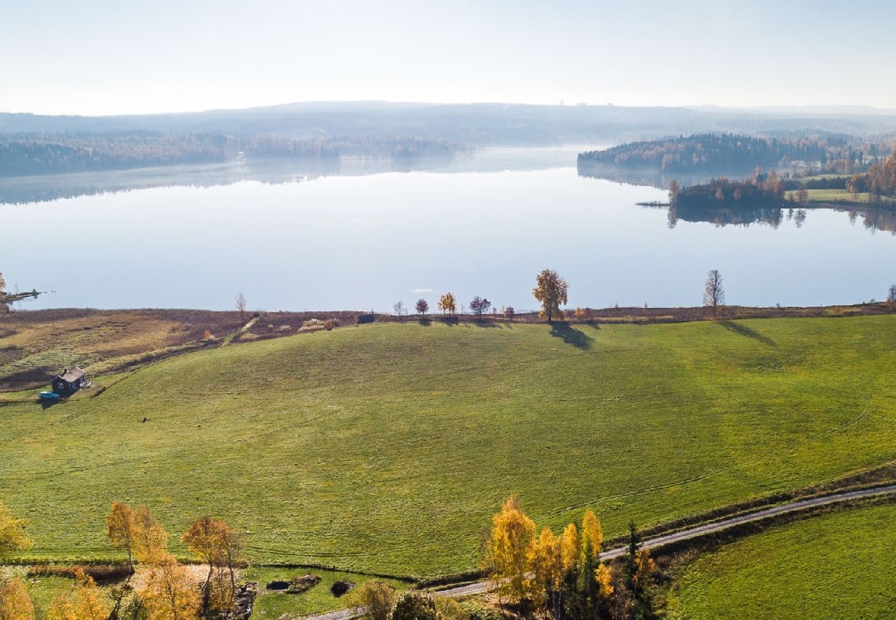
<path id="1" fill-rule="evenodd" d="M 224 517 L 256 563 L 451 573 L 511 493 L 612 537 L 892 461 L 894 367 L 893 315 L 316 332 L 0 407 L 0 500 L 46 559 L 108 557 L 117 499 L 172 538 Z"/>

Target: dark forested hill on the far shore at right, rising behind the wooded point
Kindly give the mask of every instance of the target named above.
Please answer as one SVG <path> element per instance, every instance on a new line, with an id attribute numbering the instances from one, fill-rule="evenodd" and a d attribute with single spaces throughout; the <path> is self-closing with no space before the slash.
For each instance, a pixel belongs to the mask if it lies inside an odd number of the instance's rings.
<path id="1" fill-rule="evenodd" d="M 829 146 L 844 146 L 846 142 L 845 136 L 779 140 L 737 133 L 698 133 L 583 152 L 579 163 L 668 172 L 748 170 L 787 166 L 792 161 L 824 161 Z"/>

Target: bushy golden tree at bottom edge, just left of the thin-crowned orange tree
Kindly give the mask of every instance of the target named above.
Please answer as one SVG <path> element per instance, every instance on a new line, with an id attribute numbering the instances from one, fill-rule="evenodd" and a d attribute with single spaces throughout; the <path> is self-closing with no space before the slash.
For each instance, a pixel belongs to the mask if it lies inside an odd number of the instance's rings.
<path id="1" fill-rule="evenodd" d="M 187 620 L 199 612 L 199 592 L 190 573 L 172 555 L 157 555 L 137 591 L 146 620 Z"/>

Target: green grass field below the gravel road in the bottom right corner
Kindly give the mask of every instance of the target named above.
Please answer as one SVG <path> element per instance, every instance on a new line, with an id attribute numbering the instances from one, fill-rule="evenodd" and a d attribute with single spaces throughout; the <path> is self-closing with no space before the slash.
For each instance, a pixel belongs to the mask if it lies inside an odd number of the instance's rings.
<path id="1" fill-rule="evenodd" d="M 892 617 L 896 505 L 781 525 L 700 556 L 676 580 L 670 618 Z"/>

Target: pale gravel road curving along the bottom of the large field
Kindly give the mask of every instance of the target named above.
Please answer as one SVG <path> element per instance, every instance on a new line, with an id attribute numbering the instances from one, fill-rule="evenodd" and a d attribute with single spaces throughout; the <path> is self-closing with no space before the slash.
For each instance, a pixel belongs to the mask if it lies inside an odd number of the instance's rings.
<path id="1" fill-rule="evenodd" d="M 736 525 L 742 525 L 744 523 L 751 523 L 754 521 L 762 521 L 763 519 L 767 519 L 779 514 L 784 514 L 786 512 L 799 512 L 808 510 L 809 508 L 814 508 L 815 506 L 838 504 L 840 502 L 848 502 L 849 500 L 853 499 L 874 497 L 874 495 L 889 495 L 892 493 L 896 493 L 896 484 L 885 485 L 883 487 L 869 487 L 858 489 L 857 491 L 844 491 L 842 493 L 835 493 L 832 495 L 823 495 L 821 497 L 801 499 L 795 502 L 790 502 L 788 504 L 780 504 L 755 512 L 745 512 L 744 514 L 739 514 L 735 517 L 729 517 L 728 519 L 722 519 L 721 521 L 713 521 L 711 523 L 694 526 L 693 528 L 676 531 L 672 534 L 665 534 L 656 538 L 648 538 L 647 540 L 643 541 L 642 546 L 648 549 L 662 547 L 663 545 L 668 545 L 670 543 L 680 542 L 682 540 L 688 540 L 690 538 L 698 538 L 705 534 L 727 530 L 728 528 L 732 528 Z M 612 560 L 616 557 L 625 555 L 625 551 L 625 547 L 610 549 L 600 554 L 600 559 Z M 495 583 L 493 581 L 477 581 L 476 583 L 470 583 L 468 585 L 457 586 L 455 588 L 433 592 L 433 596 L 458 598 L 469 596 L 470 594 L 482 594 L 494 589 Z M 349 618 L 359 616 L 363 612 L 363 608 L 354 607 L 352 609 L 340 609 L 339 611 L 332 611 L 328 614 L 305 616 L 305 618 L 306 620 L 349 620 Z"/>

